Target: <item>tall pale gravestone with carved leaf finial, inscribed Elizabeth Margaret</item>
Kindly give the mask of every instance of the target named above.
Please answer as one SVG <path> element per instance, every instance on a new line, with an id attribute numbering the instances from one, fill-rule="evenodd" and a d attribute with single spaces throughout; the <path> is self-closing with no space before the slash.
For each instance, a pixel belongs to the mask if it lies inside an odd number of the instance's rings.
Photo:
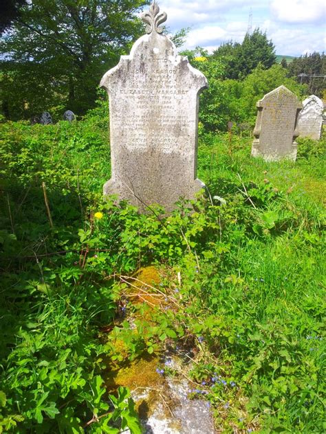
<path id="1" fill-rule="evenodd" d="M 166 13 L 153 2 L 142 14 L 146 35 L 103 76 L 109 94 L 111 179 L 104 194 L 118 194 L 144 212 L 167 212 L 182 196 L 204 187 L 196 179 L 199 92 L 208 86 L 188 58 L 162 34 Z"/>

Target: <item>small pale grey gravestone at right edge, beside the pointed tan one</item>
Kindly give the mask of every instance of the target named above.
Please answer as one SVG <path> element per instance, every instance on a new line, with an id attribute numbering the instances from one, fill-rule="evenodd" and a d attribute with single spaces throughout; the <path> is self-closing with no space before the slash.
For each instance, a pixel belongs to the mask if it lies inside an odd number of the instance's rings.
<path id="1" fill-rule="evenodd" d="M 324 104 L 315 95 L 303 101 L 303 109 L 298 117 L 298 130 L 301 137 L 319 140 L 323 126 Z"/>

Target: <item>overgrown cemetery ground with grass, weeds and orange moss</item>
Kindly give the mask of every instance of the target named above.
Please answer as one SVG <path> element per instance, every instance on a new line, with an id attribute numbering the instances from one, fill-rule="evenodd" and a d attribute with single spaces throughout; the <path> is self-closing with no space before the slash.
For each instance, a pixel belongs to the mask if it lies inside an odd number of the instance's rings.
<path id="1" fill-rule="evenodd" d="M 162 218 L 103 201 L 103 110 L 1 124 L 0 432 L 140 433 L 114 373 L 158 385 L 167 349 L 217 432 L 325 432 L 325 136 L 266 163 L 199 128 L 209 194 Z"/>

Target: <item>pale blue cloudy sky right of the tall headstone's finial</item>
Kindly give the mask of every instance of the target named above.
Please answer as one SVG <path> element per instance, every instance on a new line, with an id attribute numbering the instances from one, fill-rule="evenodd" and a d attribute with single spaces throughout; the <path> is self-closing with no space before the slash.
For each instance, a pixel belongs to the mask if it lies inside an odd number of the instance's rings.
<path id="1" fill-rule="evenodd" d="M 326 0 L 158 0 L 168 14 L 171 33 L 191 27 L 182 49 L 197 46 L 213 52 L 226 41 L 242 42 L 259 27 L 272 39 L 276 54 L 301 56 L 326 52 Z"/>

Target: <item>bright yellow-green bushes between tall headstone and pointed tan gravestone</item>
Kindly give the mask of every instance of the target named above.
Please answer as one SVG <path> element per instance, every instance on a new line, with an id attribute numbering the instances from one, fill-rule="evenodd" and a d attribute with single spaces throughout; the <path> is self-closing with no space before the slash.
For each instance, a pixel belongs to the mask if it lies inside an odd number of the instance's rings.
<path id="1" fill-rule="evenodd" d="M 198 52 L 198 50 L 197 50 Z M 208 56 L 195 57 L 188 54 L 191 64 L 202 71 L 208 80 L 209 87 L 201 95 L 199 105 L 199 120 L 206 130 L 226 131 L 228 121 L 237 124 L 254 125 L 258 100 L 263 95 L 283 84 L 294 92 L 300 100 L 308 94 L 307 85 L 301 85 L 293 78 L 287 77 L 287 69 L 281 65 L 273 65 L 265 69 L 259 64 L 244 80 L 224 80 L 225 68 L 223 58 Z"/>

